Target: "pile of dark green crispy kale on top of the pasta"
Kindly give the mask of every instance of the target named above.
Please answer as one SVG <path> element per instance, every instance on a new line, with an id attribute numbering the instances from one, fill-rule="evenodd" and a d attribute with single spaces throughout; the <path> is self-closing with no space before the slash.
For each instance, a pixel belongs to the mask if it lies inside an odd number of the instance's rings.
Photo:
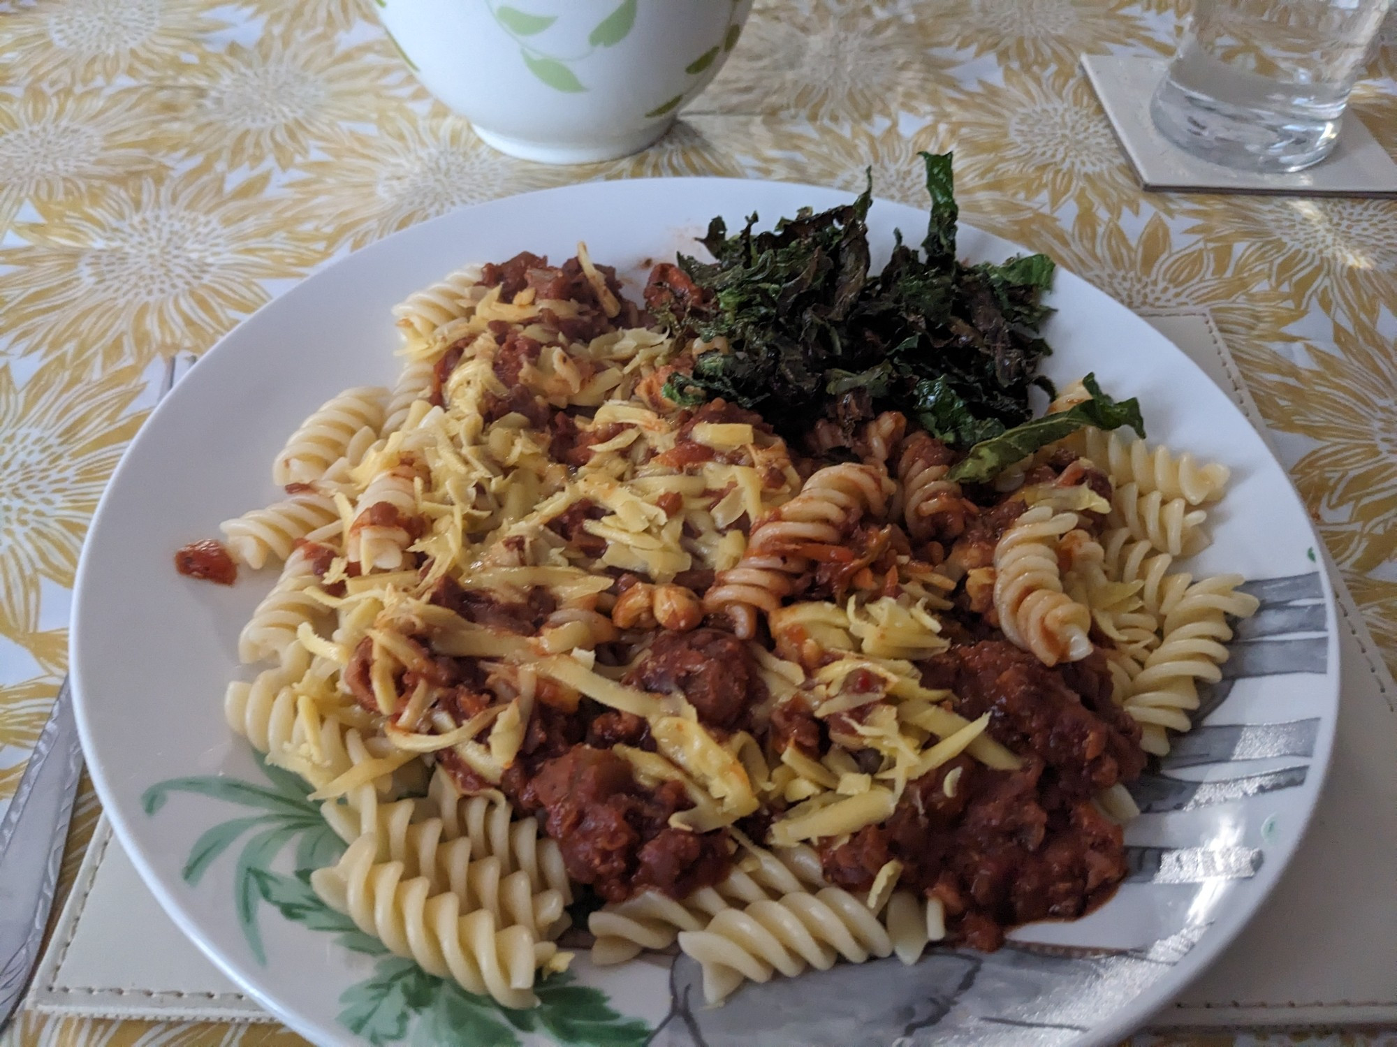
<path id="1" fill-rule="evenodd" d="M 771 232 L 757 216 L 728 236 L 715 218 L 703 244 L 717 261 L 658 267 L 645 300 L 672 331 L 725 338 L 665 395 L 750 408 L 796 441 L 819 419 L 845 434 L 901 410 L 954 447 L 993 438 L 1031 417 L 1028 389 L 1049 352 L 1038 328 L 1053 262 L 1002 265 L 956 258 L 958 211 L 951 155 L 922 154 L 930 216 L 922 250 L 901 235 L 882 272 L 869 271 L 869 187 L 821 214 L 800 211 Z"/>

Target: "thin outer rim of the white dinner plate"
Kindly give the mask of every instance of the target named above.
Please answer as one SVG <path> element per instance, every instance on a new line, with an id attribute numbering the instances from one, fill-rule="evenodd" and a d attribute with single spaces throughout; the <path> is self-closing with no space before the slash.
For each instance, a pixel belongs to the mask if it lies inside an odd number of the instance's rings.
<path id="1" fill-rule="evenodd" d="M 479 201 L 476 204 L 468 204 L 464 207 L 453 208 L 441 215 L 409 225 L 404 229 L 398 229 L 388 236 L 384 236 L 373 243 L 365 244 L 365 247 L 346 253 L 339 257 L 332 257 L 323 265 L 320 265 L 314 272 L 302 276 L 295 282 L 293 286 L 288 288 L 284 293 L 271 297 L 268 302 L 263 303 L 258 309 L 250 313 L 247 317 L 242 318 L 233 328 L 225 332 L 218 341 L 210 346 L 200 357 L 204 360 L 214 353 L 226 355 L 228 343 L 233 341 L 246 325 L 253 320 L 261 317 L 264 313 L 295 309 L 295 303 L 299 295 L 303 292 L 305 286 L 317 281 L 331 271 L 338 271 L 341 267 L 348 267 L 351 260 L 359 258 L 360 255 L 372 257 L 379 253 L 384 244 L 390 242 L 402 242 L 414 236 L 430 237 L 430 230 L 433 228 L 446 228 L 453 222 L 461 222 L 462 215 L 479 212 L 482 209 L 490 209 L 502 205 L 517 205 L 518 201 L 536 200 L 539 197 L 566 197 L 566 195 L 588 195 L 591 193 L 627 193 L 634 191 L 637 187 L 658 187 L 665 186 L 666 191 L 680 193 L 686 184 L 703 184 L 705 187 L 714 184 L 722 184 L 726 188 L 736 191 L 739 187 L 750 186 L 780 186 L 789 193 L 799 193 L 807 190 L 813 194 L 840 194 L 841 197 L 852 197 L 854 193 L 834 187 L 834 186 L 817 186 L 812 183 L 789 181 L 784 179 L 736 179 L 736 177 L 703 177 L 703 176 L 675 176 L 675 177 L 647 177 L 647 179 L 613 179 L 613 180 L 591 180 L 570 183 L 566 186 L 553 186 L 541 190 L 532 190 L 528 193 L 517 193 L 506 197 L 497 197 L 495 200 Z M 893 207 L 911 214 L 923 215 L 916 207 L 909 204 L 902 204 L 895 200 L 888 200 L 884 197 L 875 197 L 875 204 L 882 204 L 884 207 Z M 766 223 L 763 223 L 766 225 Z M 1028 248 L 1010 242 L 1004 237 L 990 233 L 986 229 L 975 226 L 970 222 L 961 222 L 960 229 L 963 233 L 974 233 L 978 236 L 986 236 L 993 242 L 1009 244 L 1011 250 L 1020 253 L 1030 253 Z M 524 232 L 527 235 L 527 230 Z M 521 248 L 521 250 L 528 250 Z M 960 255 L 958 255 L 960 257 Z M 460 264 L 467 264 L 471 260 L 462 260 Z M 1056 262 L 1056 258 L 1053 260 Z M 360 260 L 358 262 L 363 265 Z M 1073 281 L 1078 281 L 1084 288 L 1090 289 L 1091 293 L 1099 296 L 1102 304 L 1109 303 L 1119 310 L 1123 310 L 1132 317 L 1133 321 L 1146 324 L 1151 331 L 1155 331 L 1148 321 L 1136 313 L 1133 309 L 1126 306 L 1113 297 L 1109 292 L 1097 286 L 1084 276 L 1077 275 L 1071 269 L 1058 265 L 1058 274 L 1066 275 Z M 446 275 L 446 274 L 443 274 Z M 289 303 L 289 304 L 286 304 Z M 1178 348 L 1172 339 L 1169 339 L 1162 332 L 1155 331 L 1160 338 L 1172 350 L 1173 359 L 1172 364 L 1183 364 L 1186 369 L 1193 369 L 1197 377 L 1203 381 L 1214 384 L 1213 380 L 1199 367 L 1199 364 L 1192 360 L 1187 353 Z M 1310 794 L 1313 799 L 1308 803 L 1302 812 L 1302 818 L 1292 835 L 1289 835 L 1280 845 L 1271 845 L 1267 852 L 1266 866 L 1266 879 L 1261 886 L 1252 891 L 1249 895 L 1234 900 L 1225 913 L 1220 913 L 1214 917 L 1213 923 L 1200 935 L 1197 942 L 1192 946 L 1189 952 L 1187 969 L 1180 972 L 1178 966 L 1173 966 L 1162 977 L 1150 983 L 1141 993 L 1130 997 L 1120 1007 L 1115 1008 L 1105 1020 L 1091 1026 L 1088 1030 L 1081 1033 L 1076 1040 L 1071 1041 L 1073 1047 L 1088 1047 L 1104 1046 L 1113 1043 L 1132 1032 L 1141 1029 L 1150 1022 L 1150 1019 L 1165 1009 L 1169 1002 L 1179 995 L 1189 984 L 1200 979 L 1207 970 L 1217 962 L 1221 953 L 1232 945 L 1238 935 L 1250 924 L 1256 917 L 1261 906 L 1270 899 L 1277 882 L 1284 875 L 1291 860 L 1294 859 L 1296 850 L 1306 839 L 1310 825 L 1313 824 L 1315 812 L 1319 807 L 1320 797 L 1323 796 L 1324 787 L 1329 782 L 1329 776 L 1333 768 L 1334 757 L 1334 737 L 1337 730 L 1340 701 L 1341 701 L 1341 653 L 1338 644 L 1338 604 L 1336 596 L 1336 586 L 1330 578 L 1331 560 L 1327 547 L 1323 544 L 1322 539 L 1315 530 L 1315 522 L 1305 510 L 1303 498 L 1301 498 L 1299 491 L 1295 489 L 1294 480 L 1289 472 L 1281 463 L 1271 444 L 1266 440 L 1264 434 L 1252 424 L 1252 420 L 1246 417 L 1246 413 L 1227 395 L 1221 391 L 1224 399 L 1234 412 L 1236 412 L 1242 420 L 1252 429 L 1261 445 L 1264 454 L 1275 465 L 1281 476 L 1285 479 L 1289 487 L 1291 496 L 1296 501 L 1296 507 L 1301 512 L 1301 518 L 1309 536 L 1313 542 L 1313 549 L 1322 550 L 1322 554 L 1316 557 L 1315 565 L 1316 571 L 1322 579 L 1322 600 L 1326 607 L 1326 625 L 1327 625 L 1327 669 L 1324 674 L 1324 683 L 1330 685 L 1323 685 L 1326 697 L 1331 697 L 1327 702 L 1326 713 L 1320 718 L 1320 729 L 1316 737 L 1315 755 L 1310 768 L 1317 772 L 1315 778 L 1315 790 Z M 159 902 L 162 910 L 170 917 L 170 920 L 180 928 L 180 931 L 193 941 L 200 951 L 231 980 L 233 980 L 239 987 L 243 988 L 251 998 L 254 998 L 261 1007 L 264 1007 L 271 1015 L 278 1020 L 284 1022 L 296 1033 L 305 1036 L 313 1043 L 344 1043 L 344 1044 L 359 1044 L 362 1040 L 349 1033 L 346 1029 L 326 1026 L 319 1020 L 314 1020 L 306 1015 L 302 1015 L 292 1004 L 282 1002 L 278 997 L 261 991 L 251 977 L 244 977 L 242 973 L 242 966 L 233 956 L 225 955 L 224 949 L 210 937 L 204 934 L 196 919 L 197 906 L 187 903 L 180 899 L 172 889 L 168 889 L 163 878 L 165 874 L 158 867 L 158 863 L 152 860 L 152 856 L 147 854 L 145 850 L 138 845 L 137 835 L 127 821 L 127 811 L 123 808 L 122 790 L 113 786 L 108 779 L 106 768 L 103 761 L 99 758 L 101 743 L 96 740 L 94 727 L 89 719 L 92 706 L 89 702 L 99 701 L 89 697 L 88 687 L 85 685 L 85 674 L 82 671 L 82 645 L 87 631 L 81 628 L 80 623 L 84 618 L 84 613 L 89 603 L 98 602 L 101 597 L 91 593 L 92 584 L 88 582 L 88 575 L 94 570 L 91 567 L 91 549 L 94 546 L 92 536 L 99 533 L 99 525 L 103 524 L 105 512 L 112 501 L 112 491 L 119 487 L 122 482 L 123 472 L 129 468 L 129 463 L 145 454 L 145 447 L 148 444 L 156 443 L 155 430 L 152 429 L 152 422 L 162 413 L 169 410 L 169 403 L 175 401 L 179 395 L 179 388 L 172 389 L 168 396 L 165 396 L 151 413 L 147 416 L 145 422 L 141 424 L 140 431 L 133 437 L 131 443 L 127 445 L 122 454 L 120 461 L 112 470 L 106 486 L 102 490 L 102 496 L 98 501 L 96 508 L 88 521 L 88 530 L 84 536 L 82 550 L 78 558 L 77 570 L 74 571 L 73 588 L 71 588 L 71 611 L 70 611 L 70 631 L 68 631 L 68 674 L 73 687 L 74 699 L 74 713 L 78 726 L 78 736 L 82 743 L 82 752 L 87 762 L 88 773 L 92 779 L 94 789 L 101 800 L 102 811 L 112 824 L 112 829 L 126 850 L 133 866 L 140 874 L 147 889 Z M 99 688 L 94 688 L 96 691 Z M 1109 902 L 1108 902 L 1109 905 Z M 1238 914 L 1241 913 L 1241 914 Z M 1218 924 L 1222 923 L 1224 927 L 1220 930 Z"/>

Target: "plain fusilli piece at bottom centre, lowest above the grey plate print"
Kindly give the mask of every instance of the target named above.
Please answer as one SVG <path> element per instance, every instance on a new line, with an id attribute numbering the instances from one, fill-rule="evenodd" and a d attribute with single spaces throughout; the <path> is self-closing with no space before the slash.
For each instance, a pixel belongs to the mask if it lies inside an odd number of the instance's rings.
<path id="1" fill-rule="evenodd" d="M 703 969 L 704 997 L 717 1004 L 745 980 L 828 970 L 840 956 L 863 963 L 893 952 L 879 919 L 837 886 L 725 909 L 701 931 L 680 931 L 679 948 Z"/>

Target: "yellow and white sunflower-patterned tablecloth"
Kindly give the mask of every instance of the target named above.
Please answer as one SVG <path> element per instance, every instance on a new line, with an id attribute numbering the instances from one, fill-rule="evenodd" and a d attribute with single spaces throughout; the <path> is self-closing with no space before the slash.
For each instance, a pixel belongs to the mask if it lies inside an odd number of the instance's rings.
<path id="1" fill-rule="evenodd" d="M 1129 306 L 1207 306 L 1397 670 L 1397 201 L 1141 193 L 1081 53 L 1168 54 L 1171 0 L 759 0 L 658 145 L 585 168 L 492 152 L 359 0 L 0 0 L 0 811 L 57 692 L 68 591 L 165 357 L 332 258 L 492 197 L 724 174 L 921 204 Z M 1397 34 L 1355 112 L 1397 152 Z M 96 819 L 84 787 L 68 875 Z M 6 1043 L 293 1041 L 275 1026 L 22 1015 Z M 1137 1037 L 1397 1044 L 1397 1034 Z"/>

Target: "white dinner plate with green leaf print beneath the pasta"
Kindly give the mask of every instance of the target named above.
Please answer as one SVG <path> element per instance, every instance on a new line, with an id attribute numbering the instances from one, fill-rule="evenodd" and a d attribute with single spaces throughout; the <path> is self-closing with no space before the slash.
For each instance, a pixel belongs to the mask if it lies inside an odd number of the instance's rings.
<path id="1" fill-rule="evenodd" d="M 306 786 L 261 765 L 224 722 L 239 628 L 271 571 L 233 588 L 179 577 L 182 544 L 275 500 L 284 438 L 342 388 L 391 384 L 391 306 L 467 261 L 521 250 L 591 255 L 638 282 L 689 250 L 712 215 L 740 226 L 848 194 L 719 179 L 606 181 L 457 211 L 307 279 L 217 345 L 154 412 L 123 458 L 78 567 L 73 684 L 102 804 L 175 921 L 261 1004 L 319 1043 L 697 1047 L 1106 1044 L 1175 997 L 1275 884 L 1315 807 L 1338 698 L 1334 603 L 1316 539 L 1284 470 L 1231 401 L 1162 335 L 1066 272 L 1046 325 L 1059 381 L 1094 370 L 1139 396 L 1151 440 L 1232 469 L 1194 574 L 1239 571 L 1261 599 L 1242 624 L 1200 726 L 1134 787 L 1132 875 L 1084 920 L 1030 926 L 996 953 L 930 949 L 746 986 L 705 1008 L 686 958 L 598 970 L 580 955 L 536 1012 L 504 1012 L 423 974 L 326 909 L 298 871 L 338 840 Z M 879 201 L 875 264 L 894 226 L 923 212 Z M 963 228 L 960 254 L 1016 247 Z M 1302 946 L 1296 942 L 1296 946 Z"/>

